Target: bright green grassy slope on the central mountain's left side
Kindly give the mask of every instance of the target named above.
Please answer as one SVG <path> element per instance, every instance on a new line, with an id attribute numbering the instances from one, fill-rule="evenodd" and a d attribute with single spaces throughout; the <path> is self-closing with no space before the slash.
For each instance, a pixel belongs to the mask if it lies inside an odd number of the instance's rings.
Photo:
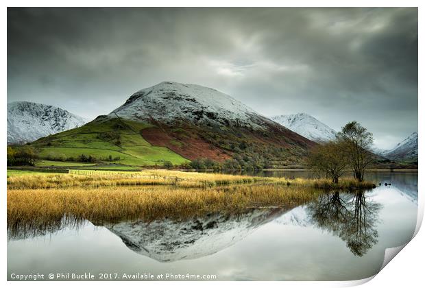
<path id="1" fill-rule="evenodd" d="M 47 158 L 53 152 L 75 159 L 81 154 L 92 155 L 98 159 L 119 157 L 119 160 L 108 163 L 123 165 L 162 165 L 164 160 L 181 164 L 188 161 L 167 147 L 152 146 L 145 141 L 139 132 L 147 127 L 150 127 L 149 124 L 134 121 L 95 120 L 80 128 L 44 137 L 32 145 L 40 149 L 40 158 Z M 114 141 L 102 139 L 101 133 L 111 131 L 119 132 L 119 145 L 114 144 Z"/>

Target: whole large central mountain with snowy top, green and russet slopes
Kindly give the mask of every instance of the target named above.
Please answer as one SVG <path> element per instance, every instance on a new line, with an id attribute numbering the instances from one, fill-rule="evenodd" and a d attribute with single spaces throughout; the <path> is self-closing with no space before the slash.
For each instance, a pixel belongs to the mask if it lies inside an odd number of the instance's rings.
<path id="1" fill-rule="evenodd" d="M 73 158 L 110 155 L 129 165 L 210 158 L 231 160 L 230 168 L 238 169 L 300 164 L 315 143 L 213 88 L 161 82 L 134 93 L 109 115 L 36 145 L 42 155 L 49 149 Z"/>

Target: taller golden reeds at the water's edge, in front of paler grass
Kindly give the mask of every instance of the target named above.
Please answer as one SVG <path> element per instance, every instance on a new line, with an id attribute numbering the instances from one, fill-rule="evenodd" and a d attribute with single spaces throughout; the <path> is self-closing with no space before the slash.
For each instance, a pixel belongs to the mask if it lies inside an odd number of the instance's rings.
<path id="1" fill-rule="evenodd" d="M 37 234 L 61 227 L 63 219 L 114 223 L 127 219 L 186 218 L 252 207 L 293 207 L 312 200 L 318 193 L 309 187 L 277 184 L 206 189 L 164 186 L 10 189 L 8 230 L 12 236 L 28 230 Z"/>

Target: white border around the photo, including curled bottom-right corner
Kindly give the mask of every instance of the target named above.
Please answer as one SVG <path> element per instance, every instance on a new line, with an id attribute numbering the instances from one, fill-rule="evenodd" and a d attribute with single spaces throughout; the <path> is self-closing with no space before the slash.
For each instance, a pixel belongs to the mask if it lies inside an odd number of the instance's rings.
<path id="1" fill-rule="evenodd" d="M 423 2 L 423 1 L 422 1 Z M 5 135 L 7 127 L 5 125 L 7 121 L 7 109 L 6 109 L 6 103 L 7 103 L 7 8 L 10 7 L 30 7 L 30 6 L 37 6 L 37 7 L 71 7 L 71 6 L 77 6 L 77 7 L 263 7 L 263 6 L 274 6 L 274 7 L 419 7 L 419 51 L 422 51 L 424 47 L 423 43 L 423 35 L 421 35 L 421 32 L 423 31 L 423 23 L 422 17 L 424 16 L 424 13 L 422 13 L 422 7 L 421 7 L 421 1 L 415 1 L 415 0 L 405 0 L 405 1 L 394 1 L 394 0 L 357 0 L 357 1 L 330 1 L 330 0 L 324 0 L 324 1 L 314 1 L 314 0 L 304 0 L 304 1 L 278 1 L 278 0 L 262 0 L 262 1 L 254 1 L 254 0 L 244 0 L 244 1 L 224 1 L 224 0 L 216 0 L 216 1 L 193 1 L 193 0 L 180 0 L 180 1 L 171 1 L 171 0 L 158 0 L 158 1 L 136 1 L 136 0 L 121 0 L 121 1 L 110 1 L 110 0 L 104 0 L 104 1 L 93 1 L 93 0 L 74 0 L 74 1 L 53 1 L 53 0 L 40 0 L 40 1 L 30 1 L 30 0 L 21 0 L 21 1 L 4 1 L 5 5 L 3 6 L 3 10 L 1 10 L 1 17 L 2 20 L 2 27 L 1 27 L 1 39 L 3 40 L 3 45 L 1 45 L 1 51 L 2 56 L 1 62 L 2 67 L 1 69 L 1 79 L 3 80 L 3 97 L 2 97 L 2 105 L 1 105 L 1 117 L 3 117 L 3 125 L 1 125 L 1 131 L 0 134 L 3 135 L 3 141 L 1 142 L 3 153 L 0 153 L 0 159 L 1 159 L 1 175 L 0 181 L 1 181 L 1 187 L 3 187 L 3 193 L 2 193 L 2 204 L 1 204 L 1 212 L 3 217 L 0 217 L 0 221 L 2 224 L 2 231 L 3 231 L 3 237 L 1 238 L 1 250 L 3 251 L 3 259 L 0 261 L 0 266 L 2 273 L 0 274 L 1 280 L 4 282 L 7 282 L 7 243 L 6 243 L 6 156 L 5 156 L 5 150 L 7 145 L 7 140 Z M 423 34 L 423 33 L 422 33 Z M 422 49 L 421 49 L 422 48 Z M 418 134 L 419 134 L 419 144 L 420 144 L 420 151 L 419 154 L 419 162 L 423 163 L 423 154 L 422 151 L 424 151 L 423 142 L 422 142 L 422 132 L 424 123 L 424 117 L 422 115 L 422 112 L 424 112 L 424 101 L 419 97 L 421 93 L 423 92 L 423 85 L 424 83 L 421 80 L 424 80 L 422 67 L 423 67 L 423 61 L 424 58 L 422 57 L 421 53 L 419 53 L 419 90 L 418 90 Z M 415 238 L 406 245 L 406 248 L 400 252 L 400 255 L 396 257 L 395 261 L 391 261 L 379 274 L 377 274 L 376 277 L 371 277 L 363 280 L 356 280 L 356 281 L 335 281 L 335 282 L 225 282 L 225 283 L 215 283 L 215 282 L 203 282 L 202 286 L 206 287 L 215 287 L 217 285 L 232 285 L 237 287 L 254 287 L 254 285 L 267 285 L 270 287 L 282 287 L 282 285 L 286 287 L 348 287 L 348 286 L 354 286 L 354 285 L 360 285 L 363 283 L 367 284 L 365 287 L 400 287 L 400 286 L 406 286 L 406 287 L 419 287 L 420 284 L 423 285 L 424 283 L 424 276 L 423 276 L 423 257 L 424 257 L 424 245 L 422 243 L 425 243 L 425 234 L 423 231 L 420 231 L 420 225 L 422 224 L 423 214 L 424 214 L 424 197 L 422 197 L 422 191 L 424 188 L 424 182 L 422 182 L 422 179 L 424 179 L 424 173 L 422 173 L 422 170 L 419 171 L 419 207 L 418 207 L 418 221 L 417 221 L 417 228 L 415 233 L 417 235 Z M 419 232 L 418 232 L 419 231 Z M 393 251 L 394 252 L 394 251 Z M 374 280 L 371 280 L 374 278 Z M 2 282 L 3 282 L 2 281 Z M 368 282 L 369 281 L 369 282 Z M 93 287 L 97 285 L 101 285 L 102 287 L 115 287 L 117 284 L 122 285 L 121 283 L 114 283 L 114 282 L 80 282 L 80 283 L 73 283 L 73 282 L 62 282 L 60 285 L 64 285 L 64 287 L 73 287 L 74 285 L 83 285 Z M 158 287 L 158 286 L 168 286 L 172 285 L 173 287 L 198 287 L 199 282 L 154 282 L 154 283 L 147 283 L 147 282 L 126 282 L 124 285 L 132 286 L 132 287 L 141 287 L 148 286 L 148 287 Z M 11 287 L 23 287 L 26 285 L 31 285 L 32 287 L 56 287 L 58 283 L 56 282 L 49 282 L 49 281 L 43 281 L 43 282 L 7 282 L 6 285 Z"/>

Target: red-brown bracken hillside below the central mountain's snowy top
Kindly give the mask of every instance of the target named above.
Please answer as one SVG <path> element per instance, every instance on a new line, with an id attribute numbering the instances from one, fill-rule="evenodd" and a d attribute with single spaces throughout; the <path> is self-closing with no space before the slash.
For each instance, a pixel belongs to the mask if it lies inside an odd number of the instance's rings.
<path id="1" fill-rule="evenodd" d="M 164 146 L 184 158 L 210 158 L 222 162 L 236 155 L 261 155 L 271 162 L 301 163 L 315 143 L 274 122 L 266 130 L 246 128 L 198 127 L 191 123 L 169 126 L 154 123 L 155 128 L 141 131 L 143 138 L 155 146 Z M 282 164 L 282 163 L 281 163 Z"/>

